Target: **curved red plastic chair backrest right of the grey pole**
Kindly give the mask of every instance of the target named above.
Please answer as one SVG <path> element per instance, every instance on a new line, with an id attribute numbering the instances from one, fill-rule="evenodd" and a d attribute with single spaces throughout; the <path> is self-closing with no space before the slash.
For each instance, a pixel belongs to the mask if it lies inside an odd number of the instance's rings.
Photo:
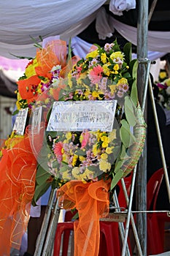
<path id="1" fill-rule="evenodd" d="M 158 192 L 163 180 L 163 168 L 156 170 L 147 182 L 147 210 L 155 211 Z"/>

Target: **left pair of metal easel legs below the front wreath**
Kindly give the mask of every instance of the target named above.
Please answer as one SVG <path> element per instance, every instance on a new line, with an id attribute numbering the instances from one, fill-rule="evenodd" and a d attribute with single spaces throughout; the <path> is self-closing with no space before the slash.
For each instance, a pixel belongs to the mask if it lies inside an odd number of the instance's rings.
<path id="1" fill-rule="evenodd" d="M 57 189 L 52 189 L 50 198 L 45 211 L 45 217 L 42 222 L 42 228 L 36 243 L 36 251 L 34 256 L 51 256 L 53 252 L 53 244 L 55 231 L 57 228 L 59 208 L 58 199 L 56 198 Z"/>

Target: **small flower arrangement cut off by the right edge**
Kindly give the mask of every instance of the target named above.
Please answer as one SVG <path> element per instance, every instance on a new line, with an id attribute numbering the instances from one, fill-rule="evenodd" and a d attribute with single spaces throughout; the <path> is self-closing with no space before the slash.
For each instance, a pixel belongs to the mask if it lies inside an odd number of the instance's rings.
<path id="1" fill-rule="evenodd" d="M 170 109 L 170 78 L 166 78 L 161 83 L 157 83 L 159 89 L 159 102 L 163 108 Z"/>

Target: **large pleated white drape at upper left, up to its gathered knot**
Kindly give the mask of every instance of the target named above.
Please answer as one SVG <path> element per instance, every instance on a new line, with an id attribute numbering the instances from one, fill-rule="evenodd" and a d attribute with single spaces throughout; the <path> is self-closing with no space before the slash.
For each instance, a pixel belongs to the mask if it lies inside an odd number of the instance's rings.
<path id="1" fill-rule="evenodd" d="M 108 2 L 108 1 L 107 1 Z M 67 40 L 75 37 L 95 20 L 106 0 L 27 0 L 1 1 L 0 56 L 34 56 L 36 40 L 60 35 Z M 136 7 L 135 0 L 110 0 L 112 12 L 121 15 L 123 10 Z"/>

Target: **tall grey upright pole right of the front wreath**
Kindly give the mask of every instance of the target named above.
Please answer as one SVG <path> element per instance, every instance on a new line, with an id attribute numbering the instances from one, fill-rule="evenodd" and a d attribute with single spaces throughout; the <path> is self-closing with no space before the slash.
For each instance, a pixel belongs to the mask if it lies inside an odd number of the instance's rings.
<path id="1" fill-rule="evenodd" d="M 137 59 L 147 58 L 147 31 L 148 31 L 148 0 L 138 1 L 137 20 Z M 137 86 L 139 91 L 139 102 L 142 105 L 144 94 L 144 81 L 146 76 L 145 64 L 139 61 Z M 144 119 L 147 121 L 147 105 L 144 108 Z M 139 159 L 136 173 L 136 209 L 138 211 L 147 210 L 147 145 L 144 145 L 142 157 Z M 143 255 L 147 255 L 147 216 L 145 213 L 136 214 L 136 227 L 139 234 L 139 241 Z"/>

